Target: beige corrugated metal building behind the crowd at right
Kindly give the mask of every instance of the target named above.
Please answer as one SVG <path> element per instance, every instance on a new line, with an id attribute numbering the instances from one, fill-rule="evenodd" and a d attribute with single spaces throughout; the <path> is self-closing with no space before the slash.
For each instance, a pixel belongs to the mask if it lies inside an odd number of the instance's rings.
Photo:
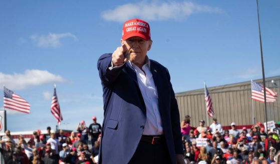
<path id="1" fill-rule="evenodd" d="M 273 83 L 271 82 L 273 80 Z M 262 84 L 262 79 L 254 80 Z M 269 89 L 280 92 L 280 76 L 265 79 L 265 85 Z M 223 126 L 235 122 L 236 125 L 252 124 L 252 106 L 254 109 L 255 122 L 263 123 L 265 121 L 264 103 L 251 100 L 251 82 L 241 82 L 217 87 L 208 88 L 211 96 L 214 117 Z M 198 126 L 199 120 L 203 119 L 207 125 L 206 108 L 204 100 L 204 88 L 193 91 L 181 92 L 175 94 L 179 111 L 180 120 L 185 115 L 191 116 L 191 126 Z M 212 117 L 209 123 L 212 123 Z M 280 98 L 273 103 L 267 103 L 267 121 L 280 121 Z"/>

